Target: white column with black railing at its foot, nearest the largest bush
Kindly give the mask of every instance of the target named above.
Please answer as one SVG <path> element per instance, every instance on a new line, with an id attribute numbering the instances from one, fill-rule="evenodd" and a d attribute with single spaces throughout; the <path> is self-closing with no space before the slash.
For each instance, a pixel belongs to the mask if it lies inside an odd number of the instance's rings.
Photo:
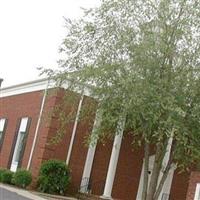
<path id="1" fill-rule="evenodd" d="M 81 185 L 80 185 L 81 192 L 87 192 L 87 189 L 88 189 L 90 174 L 92 171 L 92 165 L 93 165 L 94 155 L 95 155 L 95 150 L 96 150 L 96 145 L 97 145 L 97 138 L 98 138 L 98 136 L 95 134 L 96 134 L 96 130 L 100 126 L 100 123 L 101 123 L 101 114 L 99 111 L 97 111 L 94 125 L 93 125 L 93 130 L 92 130 L 92 137 L 93 136 L 94 137 L 88 148 L 82 180 L 81 180 Z"/>

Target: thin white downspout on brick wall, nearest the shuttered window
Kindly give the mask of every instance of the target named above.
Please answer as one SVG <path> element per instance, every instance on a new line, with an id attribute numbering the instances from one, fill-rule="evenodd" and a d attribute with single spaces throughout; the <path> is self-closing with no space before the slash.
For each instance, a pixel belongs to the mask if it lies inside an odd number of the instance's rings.
<path id="1" fill-rule="evenodd" d="M 40 126 L 40 122 L 41 122 L 41 118 L 42 118 L 42 113 L 43 113 L 43 109 L 44 109 L 44 105 L 45 105 L 45 100 L 46 100 L 46 96 L 47 96 L 48 86 L 49 86 L 49 82 L 47 82 L 47 84 L 46 84 L 46 89 L 44 91 L 44 95 L 43 95 L 43 98 L 42 98 L 42 103 L 41 103 L 41 107 L 40 107 L 40 113 L 39 113 L 39 117 L 38 117 L 36 129 L 35 129 L 35 134 L 34 134 L 34 139 L 33 139 L 32 147 L 31 147 L 31 152 L 30 152 L 28 164 L 27 164 L 27 170 L 30 169 L 30 165 L 31 165 L 32 157 L 33 157 L 33 152 L 35 150 L 36 140 L 37 140 L 39 126 Z"/>

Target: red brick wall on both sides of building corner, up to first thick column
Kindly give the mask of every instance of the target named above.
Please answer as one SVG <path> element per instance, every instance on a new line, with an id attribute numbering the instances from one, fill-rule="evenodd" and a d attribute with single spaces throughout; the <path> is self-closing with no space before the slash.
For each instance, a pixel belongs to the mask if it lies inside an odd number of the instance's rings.
<path id="1" fill-rule="evenodd" d="M 14 136 L 16 133 L 17 119 L 20 117 L 28 116 L 31 118 L 31 125 L 22 159 L 22 168 L 27 167 L 43 94 L 43 91 L 38 91 L 0 99 L 0 117 L 5 117 L 8 119 L 4 142 L 0 152 L 0 167 L 7 167 L 8 165 L 11 146 L 13 144 Z M 61 141 L 59 141 L 57 144 L 49 145 L 50 140 L 53 136 L 55 136 L 58 126 L 60 125 L 58 115 L 52 116 L 51 111 L 52 108 L 54 108 L 56 105 L 61 105 L 63 98 L 71 98 L 72 96 L 75 96 L 73 104 L 71 105 L 70 102 L 67 102 L 67 104 L 63 104 L 65 107 L 62 107 L 63 105 L 61 106 L 61 109 L 64 109 L 66 114 L 69 114 L 72 111 L 74 114 L 76 114 L 80 95 L 69 91 L 66 92 L 63 89 L 53 89 L 45 100 L 42 120 L 39 127 L 36 146 L 33 152 L 30 166 L 30 170 L 32 171 L 34 177 L 34 183 L 36 181 L 41 163 L 44 160 L 56 158 L 65 161 L 67 158 L 74 121 L 70 121 L 66 125 L 65 133 Z M 91 101 L 93 101 L 91 98 L 85 96 L 82 104 L 82 109 L 86 108 L 86 106 Z M 80 122 L 78 122 L 75 141 L 69 163 L 70 169 L 72 171 L 72 191 L 77 191 L 78 187 L 80 186 L 88 150 L 84 144 L 84 141 L 86 135 L 91 132 L 93 120 L 94 112 L 87 119 L 80 120 Z"/>

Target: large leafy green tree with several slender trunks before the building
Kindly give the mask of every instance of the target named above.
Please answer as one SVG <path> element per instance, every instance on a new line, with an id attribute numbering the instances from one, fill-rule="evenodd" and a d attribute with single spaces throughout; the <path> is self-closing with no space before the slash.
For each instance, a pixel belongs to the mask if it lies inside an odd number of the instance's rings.
<path id="1" fill-rule="evenodd" d="M 125 113 L 145 151 L 142 200 L 158 199 L 173 163 L 188 169 L 200 158 L 200 2 L 102 0 L 66 24 L 60 70 L 44 72 L 73 88 L 90 85 L 102 113 L 98 138 Z"/>

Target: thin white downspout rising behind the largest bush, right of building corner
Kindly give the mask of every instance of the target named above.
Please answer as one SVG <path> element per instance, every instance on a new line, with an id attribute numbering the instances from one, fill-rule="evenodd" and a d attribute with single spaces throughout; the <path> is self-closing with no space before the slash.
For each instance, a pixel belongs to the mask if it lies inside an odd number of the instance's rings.
<path id="1" fill-rule="evenodd" d="M 84 99 L 84 95 L 81 95 L 81 99 L 79 101 L 79 105 L 78 105 L 78 109 L 77 109 L 77 113 L 76 113 L 76 118 L 75 118 L 75 122 L 74 122 L 74 127 L 73 127 L 73 130 L 72 130 L 72 136 L 71 136 L 71 140 L 70 140 L 70 144 L 69 144 L 69 149 L 68 149 L 68 153 L 67 153 L 67 159 L 66 159 L 67 165 L 69 164 L 69 160 L 70 160 L 70 157 L 71 157 L 71 154 L 72 154 L 72 147 L 73 147 L 74 138 L 75 138 L 75 135 L 76 135 L 76 130 L 77 130 L 77 125 L 78 125 L 78 120 L 79 120 L 79 115 L 80 115 L 83 99 Z"/>

